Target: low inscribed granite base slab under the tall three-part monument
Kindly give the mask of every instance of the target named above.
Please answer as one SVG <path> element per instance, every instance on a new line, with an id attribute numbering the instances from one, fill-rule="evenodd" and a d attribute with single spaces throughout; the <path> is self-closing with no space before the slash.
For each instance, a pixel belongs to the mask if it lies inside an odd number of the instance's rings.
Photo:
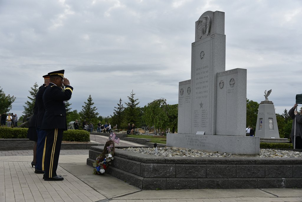
<path id="1" fill-rule="evenodd" d="M 260 153 L 260 138 L 249 136 L 167 134 L 168 147 L 218 151 L 238 155 Z"/>

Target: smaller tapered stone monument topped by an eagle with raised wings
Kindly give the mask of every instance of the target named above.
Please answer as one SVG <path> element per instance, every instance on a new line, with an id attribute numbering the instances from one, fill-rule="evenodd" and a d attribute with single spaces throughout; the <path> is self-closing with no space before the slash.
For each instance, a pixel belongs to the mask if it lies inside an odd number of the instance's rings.
<path id="1" fill-rule="evenodd" d="M 280 138 L 276 119 L 275 106 L 268 100 L 271 90 L 264 91 L 265 101 L 262 101 L 258 108 L 255 136 L 260 138 Z"/>

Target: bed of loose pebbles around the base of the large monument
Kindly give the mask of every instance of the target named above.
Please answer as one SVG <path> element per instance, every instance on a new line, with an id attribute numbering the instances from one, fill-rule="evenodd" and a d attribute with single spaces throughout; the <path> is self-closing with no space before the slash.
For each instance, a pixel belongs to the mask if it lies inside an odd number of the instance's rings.
<path id="1" fill-rule="evenodd" d="M 221 152 L 211 152 L 202 151 L 188 148 L 178 148 L 178 147 L 159 147 L 158 152 L 155 153 L 155 148 L 124 148 L 123 150 L 140 152 L 143 154 L 153 155 L 153 156 L 175 156 L 175 157 L 292 157 L 292 158 L 302 158 L 302 152 L 298 151 L 286 151 L 278 149 L 260 149 L 259 155 L 234 155 Z"/>

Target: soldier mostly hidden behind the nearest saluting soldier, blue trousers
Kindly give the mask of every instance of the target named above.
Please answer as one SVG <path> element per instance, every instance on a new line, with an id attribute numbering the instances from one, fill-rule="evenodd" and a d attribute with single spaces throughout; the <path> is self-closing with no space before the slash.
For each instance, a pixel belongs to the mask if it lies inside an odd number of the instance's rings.
<path id="1" fill-rule="evenodd" d="M 38 93 L 36 95 L 36 103 L 38 107 L 38 115 L 37 115 L 37 135 L 38 135 L 38 141 L 37 141 L 37 165 L 35 169 L 35 173 L 44 173 L 44 158 L 45 158 L 45 139 L 46 139 L 46 131 L 41 130 L 42 120 L 45 113 L 44 104 L 43 104 L 43 93 L 46 90 L 46 87 L 49 84 L 49 75 L 44 75 L 44 84 L 40 86 Z"/>

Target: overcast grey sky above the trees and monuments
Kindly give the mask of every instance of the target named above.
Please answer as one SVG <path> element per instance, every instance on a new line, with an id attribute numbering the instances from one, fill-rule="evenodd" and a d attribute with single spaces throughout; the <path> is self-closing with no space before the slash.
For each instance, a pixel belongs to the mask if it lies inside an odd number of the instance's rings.
<path id="1" fill-rule="evenodd" d="M 0 86 L 17 97 L 19 116 L 29 90 L 48 72 L 65 69 L 72 110 L 89 95 L 101 116 L 113 115 L 130 92 L 144 106 L 178 103 L 178 82 L 191 79 L 195 21 L 225 12 L 226 70 L 247 69 L 247 98 L 276 113 L 302 93 L 302 1 L 0 0 Z"/>

